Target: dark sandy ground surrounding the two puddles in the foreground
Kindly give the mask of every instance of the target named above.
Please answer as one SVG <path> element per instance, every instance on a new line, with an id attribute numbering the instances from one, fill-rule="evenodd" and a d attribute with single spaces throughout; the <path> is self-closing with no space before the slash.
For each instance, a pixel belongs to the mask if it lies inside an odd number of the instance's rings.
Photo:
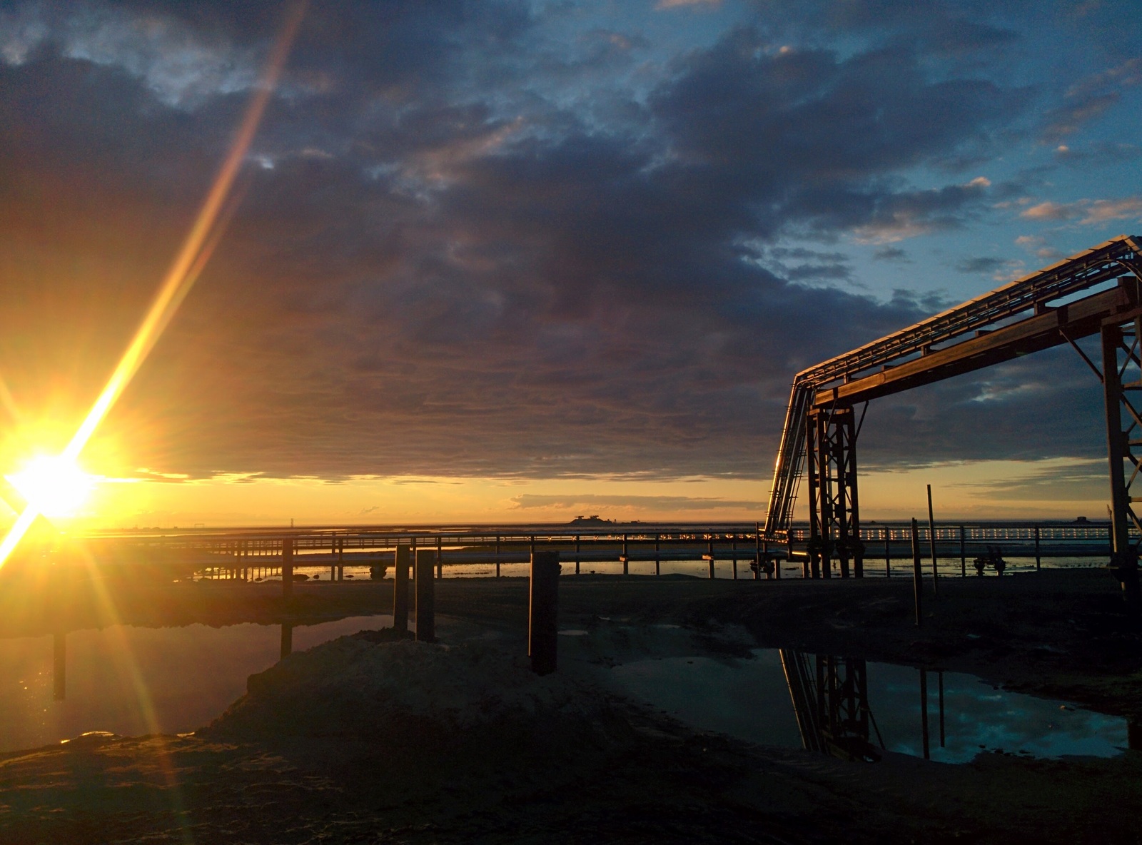
<path id="1" fill-rule="evenodd" d="M 335 618 L 392 601 L 388 584 L 300 585 L 290 606 L 271 585 L 103 587 L 73 585 L 39 613 L 0 601 L 0 630 Z M 710 653 L 780 645 L 971 671 L 1142 716 L 1142 630 L 1103 572 L 941 580 L 919 629 L 906 579 L 584 576 L 560 589 L 564 628 L 679 625 Z M 437 612 L 451 647 L 355 639 L 293 654 L 194 735 L 0 756 L 0 842 L 1142 842 L 1139 753 L 867 765 L 750 746 L 570 666 L 532 676 L 521 579 L 445 579 Z"/>

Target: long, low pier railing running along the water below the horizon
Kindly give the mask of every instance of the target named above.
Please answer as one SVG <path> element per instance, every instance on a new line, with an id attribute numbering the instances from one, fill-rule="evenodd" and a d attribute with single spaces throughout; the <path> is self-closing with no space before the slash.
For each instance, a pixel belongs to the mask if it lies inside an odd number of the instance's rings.
<path id="1" fill-rule="evenodd" d="M 919 529 L 924 558 L 931 557 L 928 526 Z M 861 528 L 866 570 L 878 574 L 876 561 L 911 557 L 910 523 L 869 523 Z M 104 566 L 130 565 L 172 571 L 179 578 L 255 580 L 280 577 L 287 540 L 292 565 L 328 568 L 340 580 L 346 566 L 373 566 L 384 576 L 397 545 L 434 553 L 437 577 L 445 568 L 526 563 L 537 550 L 558 552 L 564 573 L 601 571 L 661 573 L 662 564 L 698 562 L 700 570 L 738 578 L 781 577 L 807 560 L 807 525 L 793 525 L 778 539 L 750 523 L 627 524 L 613 526 L 321 526 L 298 529 L 183 530 L 105 532 L 77 538 L 71 555 Z M 78 550 L 77 550 L 78 549 Z M 1108 522 L 940 522 L 935 550 L 941 564 L 965 569 L 979 555 L 997 550 L 1010 558 L 1105 558 L 1110 556 Z M 651 569 L 651 564 L 653 568 Z M 794 571 L 796 574 L 796 571 Z"/>

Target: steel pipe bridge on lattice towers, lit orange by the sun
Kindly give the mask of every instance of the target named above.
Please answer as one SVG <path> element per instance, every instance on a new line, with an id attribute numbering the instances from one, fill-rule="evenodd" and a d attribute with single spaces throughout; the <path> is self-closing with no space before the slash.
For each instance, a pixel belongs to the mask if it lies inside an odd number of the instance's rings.
<path id="1" fill-rule="evenodd" d="M 942 314 L 797 373 L 789 396 L 770 491 L 765 531 L 788 531 L 804 467 L 809 468 L 810 557 L 825 572 L 831 560 L 861 572 L 856 507 L 855 405 L 1032 352 L 1071 344 L 1105 387 L 1115 565 L 1126 598 L 1139 606 L 1137 547 L 1142 521 L 1131 507 L 1131 482 L 1142 467 L 1142 236 L 1121 235 Z M 1081 298 L 1075 295 L 1102 285 Z M 1113 287 L 1110 287 L 1113 285 Z M 1101 335 L 1099 372 L 1075 341 Z M 1126 378 L 1127 372 L 1131 373 Z M 1125 427 L 1123 422 L 1127 424 Z M 806 460 L 807 453 L 807 460 Z M 823 574 L 823 573 L 822 573 Z"/>

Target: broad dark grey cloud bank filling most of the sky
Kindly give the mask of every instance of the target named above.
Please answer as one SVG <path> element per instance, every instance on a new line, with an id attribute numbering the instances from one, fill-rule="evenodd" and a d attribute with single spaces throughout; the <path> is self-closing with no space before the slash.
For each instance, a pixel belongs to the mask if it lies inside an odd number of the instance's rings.
<path id="1" fill-rule="evenodd" d="M 904 174 L 1031 102 L 928 62 L 1005 30 L 894 7 L 922 35 L 781 51 L 741 27 L 580 108 L 577 74 L 648 43 L 596 30 L 561 58 L 522 3 L 314 3 L 227 236 L 93 448 L 193 476 L 764 477 L 793 373 L 947 305 L 842 290 L 842 248 L 783 239 L 963 225 L 997 188 Z M 0 61 L 0 372 L 67 419 L 193 218 L 280 7 L 86 6 L 121 35 L 98 55 L 74 47 L 89 21 L 42 8 Z M 156 32 L 223 70 L 172 77 Z M 916 408 L 885 413 L 931 445 Z M 964 426 L 946 451 L 979 451 Z"/>

